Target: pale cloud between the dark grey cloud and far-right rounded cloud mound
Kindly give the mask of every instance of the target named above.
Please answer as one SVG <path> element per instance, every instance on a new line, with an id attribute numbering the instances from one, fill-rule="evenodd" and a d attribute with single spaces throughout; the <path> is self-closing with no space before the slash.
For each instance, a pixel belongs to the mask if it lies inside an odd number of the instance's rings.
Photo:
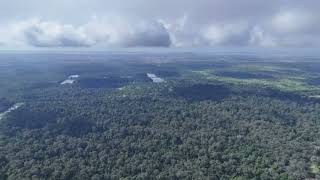
<path id="1" fill-rule="evenodd" d="M 188 16 L 175 22 L 160 20 L 172 39 L 173 46 L 221 46 L 247 45 L 249 27 L 247 23 L 228 22 L 194 26 Z"/>

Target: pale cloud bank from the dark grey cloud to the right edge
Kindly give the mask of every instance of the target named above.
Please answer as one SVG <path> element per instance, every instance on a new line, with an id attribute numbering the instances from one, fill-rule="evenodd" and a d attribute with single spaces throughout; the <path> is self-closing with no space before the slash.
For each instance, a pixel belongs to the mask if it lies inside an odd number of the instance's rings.
<path id="1" fill-rule="evenodd" d="M 173 46 L 319 46 L 319 17 L 309 12 L 282 10 L 258 21 L 239 18 L 198 23 L 184 14 L 175 21 L 161 20 Z"/>

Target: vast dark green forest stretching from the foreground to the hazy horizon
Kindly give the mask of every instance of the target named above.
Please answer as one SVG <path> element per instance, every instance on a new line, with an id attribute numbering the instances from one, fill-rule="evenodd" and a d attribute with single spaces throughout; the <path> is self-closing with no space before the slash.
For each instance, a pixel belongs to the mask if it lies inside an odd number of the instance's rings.
<path id="1" fill-rule="evenodd" d="M 320 63 L 17 56 L 0 66 L 0 112 L 23 103 L 0 116 L 0 179 L 320 179 Z"/>

